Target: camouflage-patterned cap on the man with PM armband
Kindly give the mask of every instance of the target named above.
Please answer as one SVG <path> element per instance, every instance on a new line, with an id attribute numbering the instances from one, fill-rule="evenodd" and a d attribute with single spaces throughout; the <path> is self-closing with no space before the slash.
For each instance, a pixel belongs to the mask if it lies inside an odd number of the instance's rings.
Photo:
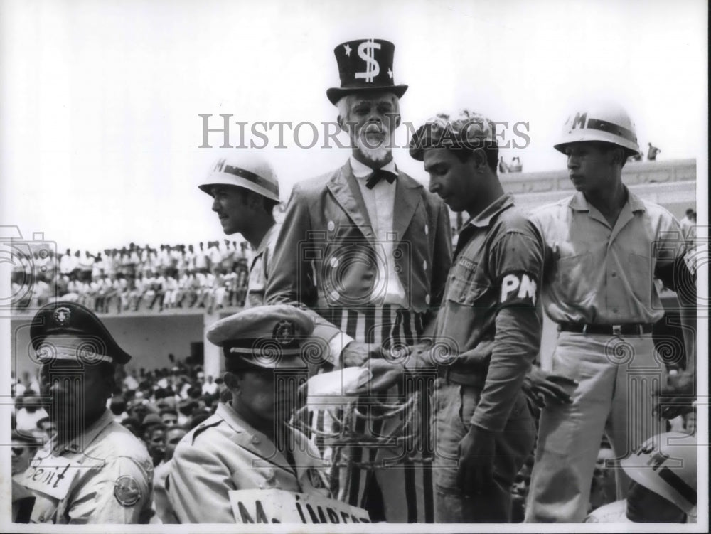
<path id="1" fill-rule="evenodd" d="M 410 156 L 422 161 L 424 149 L 476 149 L 496 145 L 496 127 L 480 113 L 462 109 L 430 117 L 410 139 Z"/>

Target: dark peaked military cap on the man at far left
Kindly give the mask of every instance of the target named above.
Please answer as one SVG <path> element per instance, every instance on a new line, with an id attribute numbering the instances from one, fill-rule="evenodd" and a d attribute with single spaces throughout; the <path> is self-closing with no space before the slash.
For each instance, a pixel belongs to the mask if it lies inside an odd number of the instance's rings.
<path id="1" fill-rule="evenodd" d="M 99 318 L 74 302 L 60 301 L 39 309 L 32 319 L 30 339 L 41 363 L 53 360 L 128 363 L 131 359 Z"/>

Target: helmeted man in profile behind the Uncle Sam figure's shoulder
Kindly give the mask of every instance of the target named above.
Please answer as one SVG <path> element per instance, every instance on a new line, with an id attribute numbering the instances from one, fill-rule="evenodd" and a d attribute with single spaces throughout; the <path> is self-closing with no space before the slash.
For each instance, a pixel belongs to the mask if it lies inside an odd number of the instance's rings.
<path id="1" fill-rule="evenodd" d="M 239 151 L 216 161 L 198 187 L 212 196 L 225 234 L 240 233 L 252 245 L 245 306 L 261 306 L 278 230 L 273 215 L 279 204 L 277 173 L 259 154 Z"/>

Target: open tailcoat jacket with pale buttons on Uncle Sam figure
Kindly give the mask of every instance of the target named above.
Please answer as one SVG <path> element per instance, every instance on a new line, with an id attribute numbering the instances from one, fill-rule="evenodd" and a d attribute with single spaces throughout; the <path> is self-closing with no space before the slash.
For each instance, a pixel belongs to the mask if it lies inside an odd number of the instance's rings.
<path id="1" fill-rule="evenodd" d="M 267 304 L 301 304 L 316 312 L 382 304 L 373 294 L 382 255 L 355 180 L 346 162 L 294 186 L 269 267 Z M 451 266 L 449 211 L 402 171 L 396 184 L 395 271 L 410 310 L 429 312 L 429 320 L 437 314 Z M 336 336 L 336 326 L 322 316 L 314 319 L 314 336 Z"/>

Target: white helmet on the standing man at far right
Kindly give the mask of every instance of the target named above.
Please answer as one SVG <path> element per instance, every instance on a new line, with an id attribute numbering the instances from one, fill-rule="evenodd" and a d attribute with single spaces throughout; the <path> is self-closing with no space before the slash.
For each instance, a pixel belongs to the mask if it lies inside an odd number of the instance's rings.
<path id="1" fill-rule="evenodd" d="M 611 102 L 591 103 L 572 112 L 553 147 L 565 154 L 565 145 L 581 141 L 604 141 L 621 146 L 628 156 L 639 154 L 634 122 L 623 107 Z"/>

